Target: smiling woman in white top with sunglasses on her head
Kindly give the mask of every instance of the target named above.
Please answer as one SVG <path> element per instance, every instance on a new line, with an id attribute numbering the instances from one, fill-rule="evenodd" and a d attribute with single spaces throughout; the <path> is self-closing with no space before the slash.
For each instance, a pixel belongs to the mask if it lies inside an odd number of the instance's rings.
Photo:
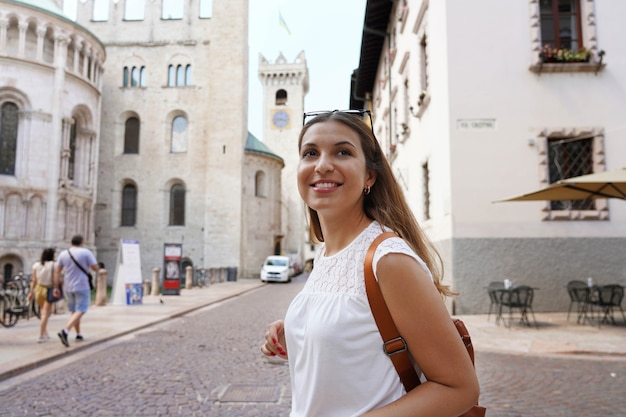
<path id="1" fill-rule="evenodd" d="M 298 190 L 311 238 L 324 245 L 261 351 L 289 358 L 292 417 L 455 417 L 478 399 L 476 374 L 442 301 L 451 292 L 441 284 L 441 261 L 358 117 L 366 114 L 316 112 L 300 133 Z M 382 350 L 365 292 L 365 253 L 384 230 L 399 237 L 376 250 L 375 276 L 426 380 L 408 394 Z"/>

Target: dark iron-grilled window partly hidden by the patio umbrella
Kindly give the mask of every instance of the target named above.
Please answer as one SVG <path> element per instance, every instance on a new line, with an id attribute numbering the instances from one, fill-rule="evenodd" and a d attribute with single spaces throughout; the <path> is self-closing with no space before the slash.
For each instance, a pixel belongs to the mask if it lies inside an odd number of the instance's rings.
<path id="1" fill-rule="evenodd" d="M 550 183 L 593 173 L 593 138 L 548 140 Z M 551 210 L 595 210 L 594 200 L 551 201 Z"/>

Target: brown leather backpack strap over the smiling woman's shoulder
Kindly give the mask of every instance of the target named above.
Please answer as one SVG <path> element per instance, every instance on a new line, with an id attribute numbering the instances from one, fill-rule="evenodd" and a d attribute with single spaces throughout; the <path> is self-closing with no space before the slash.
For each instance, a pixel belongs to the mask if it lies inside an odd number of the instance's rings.
<path id="1" fill-rule="evenodd" d="M 367 292 L 367 300 L 370 303 L 374 321 L 383 338 L 383 350 L 396 368 L 404 389 L 406 392 L 409 392 L 420 384 L 420 380 L 411 362 L 406 342 L 400 336 L 400 332 L 398 332 L 398 328 L 393 322 L 372 267 L 376 248 L 383 240 L 390 237 L 397 237 L 397 235 L 393 232 L 384 232 L 378 235 L 365 254 L 365 291 Z"/>

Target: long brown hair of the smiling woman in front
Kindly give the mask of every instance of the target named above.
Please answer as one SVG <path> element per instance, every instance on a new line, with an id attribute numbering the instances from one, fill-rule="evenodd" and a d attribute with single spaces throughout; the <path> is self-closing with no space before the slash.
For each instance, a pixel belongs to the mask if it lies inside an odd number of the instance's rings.
<path id="1" fill-rule="evenodd" d="M 417 223 L 413 212 L 406 202 L 391 166 L 385 157 L 372 128 L 352 113 L 340 111 L 323 113 L 308 121 L 302 128 L 298 138 L 298 149 L 302 145 L 302 138 L 307 130 L 316 123 L 334 120 L 342 123 L 357 133 L 361 148 L 365 154 L 367 169 L 376 172 L 376 182 L 372 185 L 369 194 L 363 199 L 363 210 L 367 217 L 376 220 L 381 225 L 389 227 L 398 236 L 404 239 L 411 249 L 422 258 L 433 275 L 435 286 L 445 296 L 455 295 L 449 286 L 443 285 L 443 262 L 439 252 L 426 237 L 426 234 Z M 324 241 L 324 234 L 317 212 L 310 207 L 309 235 L 312 242 Z"/>

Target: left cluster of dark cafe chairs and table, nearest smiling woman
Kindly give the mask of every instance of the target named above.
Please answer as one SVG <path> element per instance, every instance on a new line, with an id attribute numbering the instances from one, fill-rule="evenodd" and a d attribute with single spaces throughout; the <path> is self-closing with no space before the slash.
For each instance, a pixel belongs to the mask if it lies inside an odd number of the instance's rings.
<path id="1" fill-rule="evenodd" d="M 537 327 L 537 320 L 532 309 L 535 289 L 528 285 L 511 285 L 510 281 L 491 282 L 487 287 L 489 294 L 489 313 L 487 319 L 491 315 L 492 308 L 496 313 L 496 324 L 502 323 L 505 327 L 511 327 L 513 322 L 513 312 L 519 311 L 519 322 L 522 325 Z M 503 316 L 503 310 L 508 309 L 508 318 Z M 531 319 L 532 318 L 532 323 Z"/>

